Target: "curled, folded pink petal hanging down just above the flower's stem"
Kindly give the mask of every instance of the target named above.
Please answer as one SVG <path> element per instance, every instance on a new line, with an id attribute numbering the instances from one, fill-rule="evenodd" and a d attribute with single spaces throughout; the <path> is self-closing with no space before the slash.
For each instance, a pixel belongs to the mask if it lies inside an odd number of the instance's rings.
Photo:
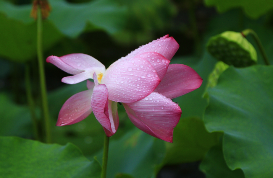
<path id="1" fill-rule="evenodd" d="M 109 112 L 108 90 L 106 85 L 101 84 L 94 87 L 91 97 L 91 106 L 96 119 L 103 126 L 106 135 L 109 137 L 112 136 L 116 132 L 117 127 L 114 123 L 112 107 L 110 107 Z M 116 115 L 114 117 L 115 121 L 118 122 Z"/>

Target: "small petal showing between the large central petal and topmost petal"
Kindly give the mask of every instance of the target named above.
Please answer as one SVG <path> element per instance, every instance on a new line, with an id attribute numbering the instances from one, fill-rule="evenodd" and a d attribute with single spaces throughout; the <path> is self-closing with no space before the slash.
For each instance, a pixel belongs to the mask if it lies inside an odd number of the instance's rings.
<path id="1" fill-rule="evenodd" d="M 166 59 L 163 55 L 154 52 L 146 52 L 136 57 L 141 57 L 149 61 L 151 65 L 156 70 L 156 74 L 158 75 L 159 79 L 162 80 L 168 70 L 168 66 L 170 61 Z"/>

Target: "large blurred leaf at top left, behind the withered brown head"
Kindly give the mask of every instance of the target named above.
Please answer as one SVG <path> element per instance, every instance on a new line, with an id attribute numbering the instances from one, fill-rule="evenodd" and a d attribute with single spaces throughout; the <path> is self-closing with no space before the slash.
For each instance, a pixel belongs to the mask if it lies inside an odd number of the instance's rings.
<path id="1" fill-rule="evenodd" d="M 52 47 L 63 35 L 76 37 L 83 30 L 122 28 L 125 8 L 110 0 L 71 4 L 64 0 L 49 1 L 52 11 L 43 23 L 43 48 Z M 36 56 L 36 23 L 30 17 L 31 4 L 16 6 L 0 0 L 0 56 L 25 62 Z"/>

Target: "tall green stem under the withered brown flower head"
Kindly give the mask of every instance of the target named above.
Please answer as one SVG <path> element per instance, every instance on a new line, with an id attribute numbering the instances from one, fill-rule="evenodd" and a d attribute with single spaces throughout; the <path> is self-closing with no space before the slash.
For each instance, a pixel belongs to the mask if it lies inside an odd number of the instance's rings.
<path id="1" fill-rule="evenodd" d="M 38 65 L 39 65 L 39 76 L 40 76 L 40 87 L 41 87 L 41 97 L 42 97 L 42 109 L 43 117 L 46 131 L 46 143 L 51 143 L 51 128 L 50 128 L 50 118 L 49 109 L 46 93 L 46 77 L 43 66 L 43 48 L 42 48 L 42 36 L 43 36 L 43 22 L 41 8 L 38 6 L 37 11 L 37 54 L 38 54 Z"/>

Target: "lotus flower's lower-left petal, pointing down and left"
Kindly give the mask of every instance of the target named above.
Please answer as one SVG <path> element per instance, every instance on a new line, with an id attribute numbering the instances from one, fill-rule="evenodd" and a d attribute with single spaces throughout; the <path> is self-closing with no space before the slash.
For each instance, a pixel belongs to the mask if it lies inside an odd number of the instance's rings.
<path id="1" fill-rule="evenodd" d="M 70 125 L 82 121 L 91 114 L 91 95 L 92 90 L 74 94 L 62 106 L 56 126 Z"/>

